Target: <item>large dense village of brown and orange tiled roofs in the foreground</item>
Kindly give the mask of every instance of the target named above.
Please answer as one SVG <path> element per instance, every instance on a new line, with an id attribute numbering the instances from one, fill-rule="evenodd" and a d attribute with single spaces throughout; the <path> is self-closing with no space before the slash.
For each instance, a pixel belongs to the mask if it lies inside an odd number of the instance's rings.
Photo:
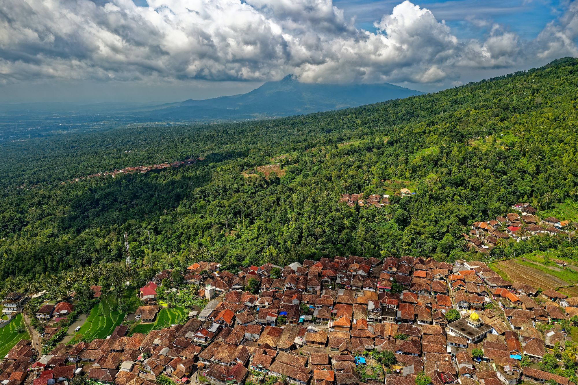
<path id="1" fill-rule="evenodd" d="M 240 385 L 275 376 L 295 385 L 412 385 L 424 372 L 433 385 L 574 385 L 520 361 L 563 349 L 564 332 L 536 327 L 578 314 L 578 297 L 538 294 L 482 262 L 336 256 L 236 274 L 197 262 L 182 274 L 210 299 L 184 325 L 132 335 L 118 326 L 106 339 L 61 344 L 42 356 L 23 340 L 6 355 L 0 380 L 22 385 L 31 376 L 27 384 L 47 385 L 84 375 L 101 384 L 150 385 L 165 376 L 177 384 Z M 170 277 L 164 271 L 154 280 Z M 251 292 L 252 279 L 260 285 Z M 136 315 L 143 321 L 159 310 L 156 287 L 151 281 L 140 291 L 147 304 Z M 372 351 L 391 351 L 397 362 L 384 367 Z M 370 362 L 387 374 L 361 376 Z"/>

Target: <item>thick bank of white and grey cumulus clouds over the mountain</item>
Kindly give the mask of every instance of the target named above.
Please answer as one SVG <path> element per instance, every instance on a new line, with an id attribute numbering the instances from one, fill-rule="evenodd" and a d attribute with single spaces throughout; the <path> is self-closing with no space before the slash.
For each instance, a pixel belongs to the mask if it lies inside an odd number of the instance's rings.
<path id="1" fill-rule="evenodd" d="M 472 21 L 474 23 L 475 21 Z M 455 82 L 460 69 L 578 55 L 578 3 L 531 42 L 494 25 L 460 40 L 409 1 L 356 28 L 331 0 L 1 0 L 0 82 Z"/>

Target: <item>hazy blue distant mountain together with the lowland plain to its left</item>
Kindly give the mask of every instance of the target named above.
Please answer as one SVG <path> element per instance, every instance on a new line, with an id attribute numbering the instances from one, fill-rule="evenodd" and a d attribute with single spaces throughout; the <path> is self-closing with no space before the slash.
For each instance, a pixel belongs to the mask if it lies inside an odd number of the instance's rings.
<path id="1" fill-rule="evenodd" d="M 132 123 L 218 123 L 357 107 L 423 92 L 393 84 L 307 84 L 295 75 L 246 94 L 176 103 L 0 105 L 0 143 Z"/>

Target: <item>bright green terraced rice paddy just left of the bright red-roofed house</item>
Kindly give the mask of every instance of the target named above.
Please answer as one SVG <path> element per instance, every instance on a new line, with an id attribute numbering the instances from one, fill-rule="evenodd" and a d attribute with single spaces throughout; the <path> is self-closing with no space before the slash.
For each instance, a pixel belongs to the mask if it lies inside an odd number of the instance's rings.
<path id="1" fill-rule="evenodd" d="M 134 312 L 136 307 L 140 305 L 139 299 L 135 295 L 135 291 L 128 291 L 123 298 L 123 303 L 128 304 L 128 311 Z M 72 342 L 79 340 L 92 340 L 95 338 L 106 338 L 109 336 L 114 328 L 120 325 L 126 313 L 121 313 L 117 310 L 117 301 L 110 295 L 105 295 L 97 306 L 90 310 L 90 315 L 86 322 L 80 327 L 72 339 Z"/>

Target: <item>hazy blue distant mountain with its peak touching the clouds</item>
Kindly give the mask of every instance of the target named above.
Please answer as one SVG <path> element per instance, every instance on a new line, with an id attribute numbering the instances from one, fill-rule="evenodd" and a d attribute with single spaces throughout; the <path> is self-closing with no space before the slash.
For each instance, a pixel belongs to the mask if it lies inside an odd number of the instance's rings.
<path id="1" fill-rule="evenodd" d="M 287 75 L 246 94 L 168 103 L 143 112 L 143 116 L 154 120 L 253 119 L 357 107 L 422 93 L 388 83 L 301 83 L 295 75 Z"/>

